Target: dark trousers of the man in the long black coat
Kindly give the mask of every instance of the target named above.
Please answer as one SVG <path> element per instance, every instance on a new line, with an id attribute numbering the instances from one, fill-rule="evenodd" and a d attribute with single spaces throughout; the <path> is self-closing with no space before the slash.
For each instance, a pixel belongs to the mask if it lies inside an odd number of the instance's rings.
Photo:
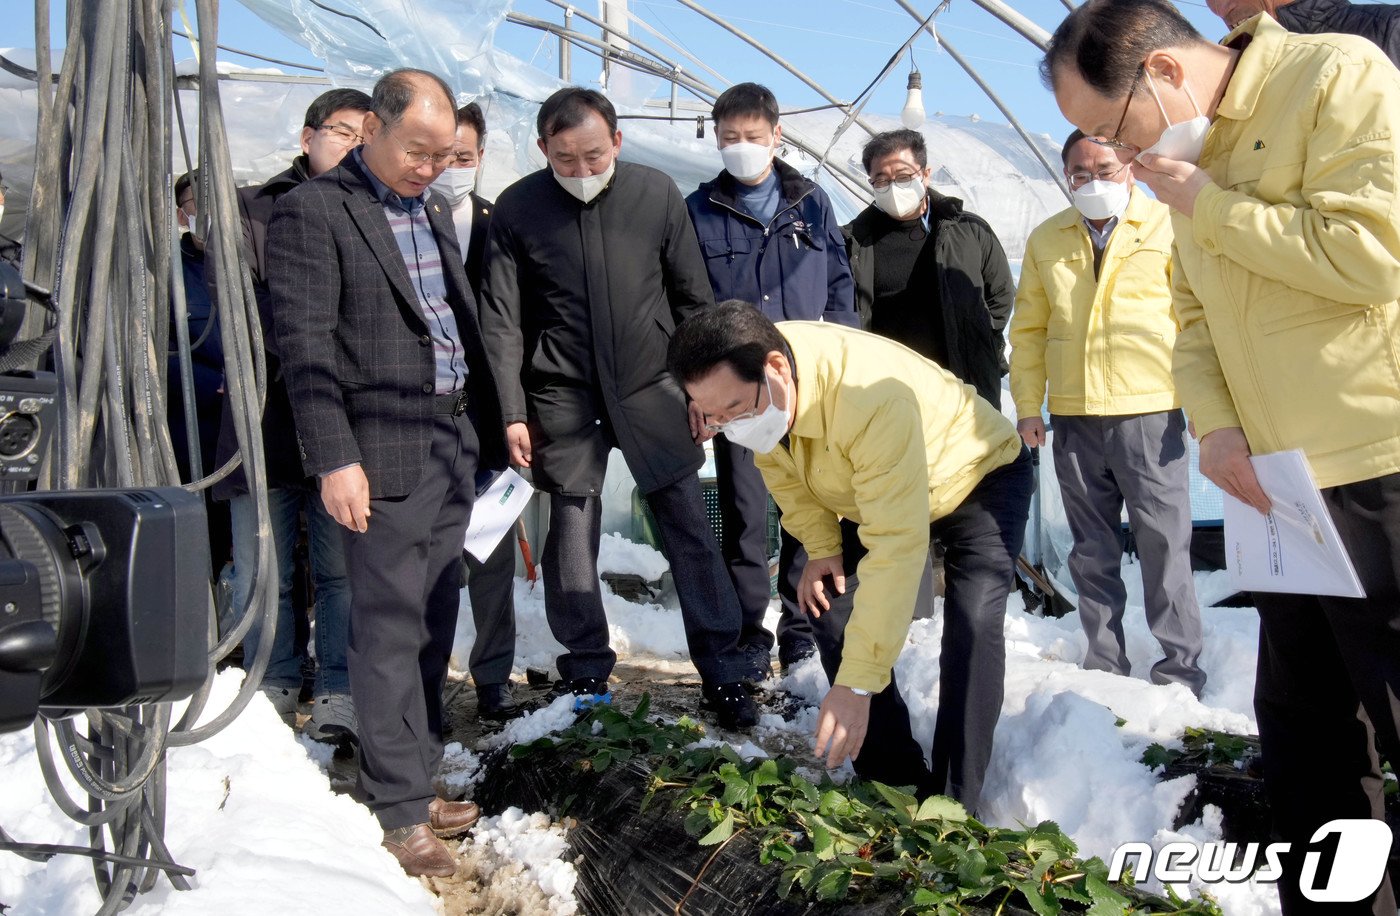
<path id="1" fill-rule="evenodd" d="M 647 493 L 647 503 L 676 583 L 690 661 L 707 685 L 741 679 L 745 662 L 739 653 L 739 602 L 706 521 L 700 479 L 690 475 Z M 617 655 L 608 644 L 608 615 L 598 583 L 602 500 L 552 493 L 549 506 L 540 564 L 549 629 L 567 650 L 557 661 L 559 676 L 606 679 Z"/>

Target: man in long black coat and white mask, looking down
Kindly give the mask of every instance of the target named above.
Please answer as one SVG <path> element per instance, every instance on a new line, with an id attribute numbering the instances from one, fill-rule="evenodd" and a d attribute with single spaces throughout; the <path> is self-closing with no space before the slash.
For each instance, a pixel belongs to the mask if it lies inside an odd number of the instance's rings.
<path id="1" fill-rule="evenodd" d="M 662 172 L 617 161 L 617 116 L 599 92 L 554 92 L 536 127 L 549 168 L 496 202 L 482 324 L 511 459 L 550 494 L 542 566 L 567 650 L 559 674 L 578 703 L 610 699 L 598 541 L 608 452 L 620 448 L 661 529 L 704 706 L 752 726 L 739 604 L 696 478 L 703 420 L 666 373 L 676 324 L 714 304 L 685 200 Z"/>

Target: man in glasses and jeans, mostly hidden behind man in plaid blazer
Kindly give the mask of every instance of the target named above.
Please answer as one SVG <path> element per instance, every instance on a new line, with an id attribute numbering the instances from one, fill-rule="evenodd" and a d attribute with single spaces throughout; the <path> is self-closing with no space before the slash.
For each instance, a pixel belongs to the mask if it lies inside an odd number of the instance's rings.
<path id="1" fill-rule="evenodd" d="M 316 679 L 312 688 L 311 723 L 305 734 L 316 741 L 344 742 L 356 737 L 354 703 L 350 699 L 350 675 L 346 648 L 350 633 L 350 581 L 346 577 L 344 539 L 335 518 L 326 513 L 316 493 L 316 482 L 301 469 L 301 459 L 288 448 L 297 434 L 287 399 L 287 382 L 277 361 L 277 336 L 272 319 L 272 294 L 267 290 L 267 223 L 281 197 L 330 171 L 354 147 L 360 146 L 370 97 L 360 90 L 322 92 L 307 108 L 301 127 L 301 155 L 291 167 L 262 185 L 238 189 L 238 214 L 242 217 L 242 254 L 253 280 L 258 311 L 262 318 L 263 349 L 267 363 L 267 396 L 263 403 L 262 433 L 267 469 L 267 513 L 273 552 L 277 557 L 277 625 L 272 655 L 263 674 L 262 691 L 288 723 L 297 713 L 301 692 L 301 646 L 305 644 L 305 615 L 293 608 L 295 546 L 301 531 L 298 517 L 307 514 L 307 546 L 311 576 L 316 588 Z M 238 451 L 234 412 L 224 402 L 223 424 L 214 466 L 223 466 Z M 248 604 L 253 563 L 258 556 L 258 522 L 253 499 L 242 466 L 213 487 L 216 500 L 227 500 L 234 529 L 234 608 Z M 260 622 L 244 637 L 245 658 L 252 658 L 262 639 Z"/>

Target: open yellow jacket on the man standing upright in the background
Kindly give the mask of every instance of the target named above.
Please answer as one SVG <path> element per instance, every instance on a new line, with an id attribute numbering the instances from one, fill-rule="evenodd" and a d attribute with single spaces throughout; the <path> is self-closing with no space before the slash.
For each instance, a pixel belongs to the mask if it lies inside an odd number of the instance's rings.
<path id="1" fill-rule="evenodd" d="M 1172 221 L 1137 188 L 1109 235 L 1099 279 L 1074 207 L 1030 233 L 1011 314 L 1016 415 L 1126 416 L 1180 406 L 1172 384 Z"/>

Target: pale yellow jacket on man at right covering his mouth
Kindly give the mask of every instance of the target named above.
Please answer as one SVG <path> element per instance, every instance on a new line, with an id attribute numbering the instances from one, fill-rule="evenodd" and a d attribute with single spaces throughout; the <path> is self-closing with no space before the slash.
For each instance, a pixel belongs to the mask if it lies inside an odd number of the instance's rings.
<path id="1" fill-rule="evenodd" d="M 1260 15 L 1173 213 L 1176 388 L 1198 436 L 1306 452 L 1319 486 L 1400 471 L 1400 71 Z"/>

